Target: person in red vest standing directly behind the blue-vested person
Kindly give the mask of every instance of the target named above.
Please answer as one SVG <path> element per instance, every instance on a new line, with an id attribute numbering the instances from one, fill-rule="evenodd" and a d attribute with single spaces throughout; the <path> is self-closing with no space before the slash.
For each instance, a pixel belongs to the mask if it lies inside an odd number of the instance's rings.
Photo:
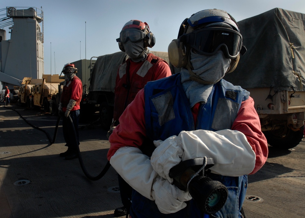
<path id="1" fill-rule="evenodd" d="M 155 36 L 149 30 L 146 22 L 128 21 L 122 28 L 117 42 L 120 50 L 126 52 L 129 58 L 120 65 L 117 71 L 113 123 L 107 136 L 119 124 L 121 114 L 147 82 L 171 75 L 166 61 L 152 54 L 147 48 L 155 45 Z M 114 214 L 124 216 L 130 207 L 132 189 L 120 175 L 118 175 L 118 179 L 123 207 L 115 209 Z"/>

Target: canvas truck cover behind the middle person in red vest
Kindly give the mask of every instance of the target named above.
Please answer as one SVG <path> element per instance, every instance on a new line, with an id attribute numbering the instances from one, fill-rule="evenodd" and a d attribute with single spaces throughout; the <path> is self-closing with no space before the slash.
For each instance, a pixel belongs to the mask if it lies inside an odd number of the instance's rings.
<path id="1" fill-rule="evenodd" d="M 169 63 L 167 52 L 154 52 L 154 55 Z M 125 52 L 116 52 L 99 56 L 92 68 L 89 92 L 113 92 L 119 66 L 128 58 Z"/>

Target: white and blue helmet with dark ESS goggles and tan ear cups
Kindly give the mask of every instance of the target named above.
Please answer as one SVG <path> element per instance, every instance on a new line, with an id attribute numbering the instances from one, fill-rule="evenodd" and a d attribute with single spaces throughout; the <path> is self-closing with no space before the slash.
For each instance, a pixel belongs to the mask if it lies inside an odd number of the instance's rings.
<path id="1" fill-rule="evenodd" d="M 236 68 L 239 54 L 246 52 L 237 22 L 219 9 L 199 11 L 182 22 L 178 39 L 168 46 L 170 62 L 175 67 L 185 67 L 189 63 L 190 49 L 203 55 L 213 55 L 221 49 L 231 59 L 227 73 Z"/>

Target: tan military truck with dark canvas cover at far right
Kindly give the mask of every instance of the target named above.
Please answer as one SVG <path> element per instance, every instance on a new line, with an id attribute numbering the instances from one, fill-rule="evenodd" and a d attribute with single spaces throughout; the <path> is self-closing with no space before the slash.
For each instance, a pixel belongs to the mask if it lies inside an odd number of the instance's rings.
<path id="1" fill-rule="evenodd" d="M 293 148 L 305 119 L 305 14 L 275 8 L 238 25 L 247 52 L 224 79 L 250 92 L 268 144 Z"/>

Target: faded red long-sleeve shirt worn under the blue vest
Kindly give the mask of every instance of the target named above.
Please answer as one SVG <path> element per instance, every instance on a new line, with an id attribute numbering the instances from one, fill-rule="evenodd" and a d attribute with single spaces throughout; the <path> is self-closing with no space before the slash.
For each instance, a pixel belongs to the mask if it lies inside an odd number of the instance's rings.
<path id="1" fill-rule="evenodd" d="M 192 108 L 192 111 L 195 115 L 194 120 L 196 120 L 196 106 Z M 127 106 L 119 121 L 120 125 L 114 129 L 109 138 L 111 146 L 107 154 L 108 160 L 120 147 L 142 146 L 146 137 L 144 89 L 139 91 L 135 100 Z M 261 132 L 260 120 L 251 97 L 242 102 L 231 129 L 238 130 L 246 136 L 256 154 L 255 167 L 250 174 L 256 173 L 267 160 L 268 147 L 267 140 Z"/>

